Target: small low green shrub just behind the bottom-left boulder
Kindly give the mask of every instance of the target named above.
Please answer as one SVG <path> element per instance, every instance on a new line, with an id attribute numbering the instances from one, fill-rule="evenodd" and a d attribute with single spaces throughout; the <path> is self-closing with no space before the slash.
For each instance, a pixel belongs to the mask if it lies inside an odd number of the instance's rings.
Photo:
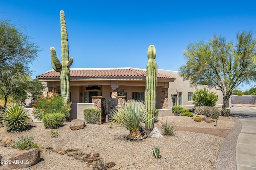
<path id="1" fill-rule="evenodd" d="M 17 142 L 14 142 L 14 146 L 19 149 L 19 150 L 28 150 L 28 149 L 33 149 L 33 148 L 39 148 L 39 146 L 32 142 L 33 139 L 34 139 L 34 136 L 31 135 L 31 136 L 21 136 L 21 137 L 18 137 L 19 140 Z"/>

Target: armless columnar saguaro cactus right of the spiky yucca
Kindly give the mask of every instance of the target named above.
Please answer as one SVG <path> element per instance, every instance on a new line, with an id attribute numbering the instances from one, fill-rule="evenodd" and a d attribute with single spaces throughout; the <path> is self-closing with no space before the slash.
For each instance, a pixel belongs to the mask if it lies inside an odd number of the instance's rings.
<path id="1" fill-rule="evenodd" d="M 150 134 L 154 128 L 154 112 L 156 110 L 156 85 L 157 64 L 156 49 L 154 45 L 148 47 L 148 63 L 146 70 L 145 105 L 148 107 L 148 121 L 146 122 L 147 133 Z"/>

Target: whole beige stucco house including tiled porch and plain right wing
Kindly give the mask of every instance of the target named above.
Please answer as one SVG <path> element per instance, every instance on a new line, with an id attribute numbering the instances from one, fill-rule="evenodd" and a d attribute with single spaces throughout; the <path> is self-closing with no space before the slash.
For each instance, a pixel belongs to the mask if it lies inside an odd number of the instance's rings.
<path id="1" fill-rule="evenodd" d="M 50 70 L 37 76 L 47 82 L 49 90 L 60 92 L 60 73 Z M 92 103 L 92 96 L 113 98 L 125 96 L 125 99 L 144 101 L 146 70 L 140 68 L 70 68 L 70 96 L 73 103 Z M 190 87 L 177 71 L 158 69 L 156 108 L 166 109 L 175 105 L 193 107 L 192 94 L 205 85 Z M 222 93 L 214 88 L 218 102 L 222 107 Z"/>

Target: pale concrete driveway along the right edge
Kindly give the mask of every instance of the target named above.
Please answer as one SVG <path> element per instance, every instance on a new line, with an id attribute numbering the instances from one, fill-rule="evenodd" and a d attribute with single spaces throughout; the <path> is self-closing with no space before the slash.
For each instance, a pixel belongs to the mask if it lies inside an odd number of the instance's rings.
<path id="1" fill-rule="evenodd" d="M 242 121 L 236 143 L 237 170 L 256 170 L 256 107 L 230 107 L 230 115 Z"/>

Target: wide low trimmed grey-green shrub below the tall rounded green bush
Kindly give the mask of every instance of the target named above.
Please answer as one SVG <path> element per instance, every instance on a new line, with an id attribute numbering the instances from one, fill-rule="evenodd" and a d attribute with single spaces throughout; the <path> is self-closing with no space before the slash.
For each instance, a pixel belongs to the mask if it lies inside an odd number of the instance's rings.
<path id="1" fill-rule="evenodd" d="M 205 115 L 211 117 L 212 119 L 218 119 L 220 117 L 220 109 L 211 106 L 196 107 L 194 113 L 196 115 Z"/>

